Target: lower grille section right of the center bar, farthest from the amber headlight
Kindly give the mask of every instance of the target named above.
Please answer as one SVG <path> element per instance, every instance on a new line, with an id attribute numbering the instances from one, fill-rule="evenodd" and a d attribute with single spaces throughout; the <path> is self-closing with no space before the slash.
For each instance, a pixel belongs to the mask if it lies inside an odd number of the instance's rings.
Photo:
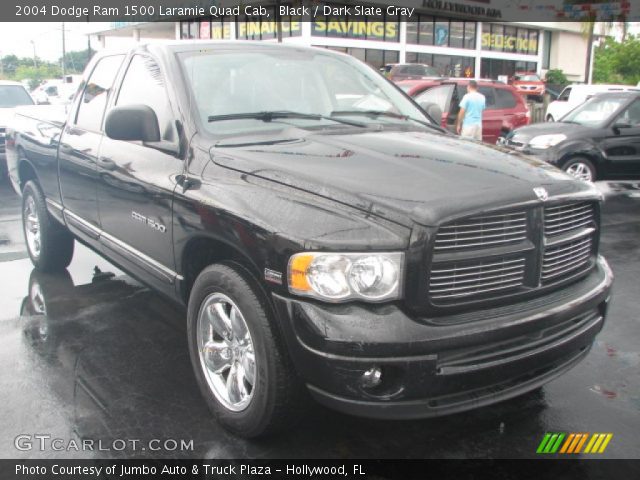
<path id="1" fill-rule="evenodd" d="M 592 236 L 547 247 L 542 259 L 542 282 L 558 280 L 560 277 L 580 270 L 589 263 L 593 249 Z"/>

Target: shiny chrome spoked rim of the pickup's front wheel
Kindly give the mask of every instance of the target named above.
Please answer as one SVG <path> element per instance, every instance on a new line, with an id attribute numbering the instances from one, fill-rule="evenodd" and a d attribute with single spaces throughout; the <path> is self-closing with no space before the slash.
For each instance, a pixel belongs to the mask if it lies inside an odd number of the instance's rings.
<path id="1" fill-rule="evenodd" d="M 247 322 L 238 306 L 222 293 L 205 298 L 198 312 L 200 367 L 209 389 L 225 408 L 249 406 L 256 384 L 256 361 Z"/>

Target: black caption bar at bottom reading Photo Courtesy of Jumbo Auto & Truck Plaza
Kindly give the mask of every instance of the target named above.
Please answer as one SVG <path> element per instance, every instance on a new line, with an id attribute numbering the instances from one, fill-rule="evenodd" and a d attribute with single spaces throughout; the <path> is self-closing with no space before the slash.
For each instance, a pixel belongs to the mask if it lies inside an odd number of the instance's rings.
<path id="1" fill-rule="evenodd" d="M 640 460 L 0 460 L 9 479 L 640 478 Z"/>

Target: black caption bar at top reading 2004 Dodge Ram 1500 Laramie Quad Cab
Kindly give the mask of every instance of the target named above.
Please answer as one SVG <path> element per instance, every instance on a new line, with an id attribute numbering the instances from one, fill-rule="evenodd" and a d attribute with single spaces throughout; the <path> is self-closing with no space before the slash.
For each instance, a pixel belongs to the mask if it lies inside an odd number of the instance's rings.
<path id="1" fill-rule="evenodd" d="M 473 16 L 492 21 L 633 21 L 640 2 L 632 0 L 3 0 L 3 22 L 157 22 L 211 16 L 253 20 L 316 21 L 331 17 L 411 21 L 420 14 Z"/>

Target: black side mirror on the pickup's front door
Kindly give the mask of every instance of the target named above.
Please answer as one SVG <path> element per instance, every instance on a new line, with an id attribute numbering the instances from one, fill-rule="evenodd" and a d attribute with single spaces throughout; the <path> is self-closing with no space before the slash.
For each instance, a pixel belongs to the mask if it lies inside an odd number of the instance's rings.
<path id="1" fill-rule="evenodd" d="M 107 137 L 113 140 L 159 142 L 160 127 L 156 112 L 147 105 L 114 107 L 104 125 Z"/>

